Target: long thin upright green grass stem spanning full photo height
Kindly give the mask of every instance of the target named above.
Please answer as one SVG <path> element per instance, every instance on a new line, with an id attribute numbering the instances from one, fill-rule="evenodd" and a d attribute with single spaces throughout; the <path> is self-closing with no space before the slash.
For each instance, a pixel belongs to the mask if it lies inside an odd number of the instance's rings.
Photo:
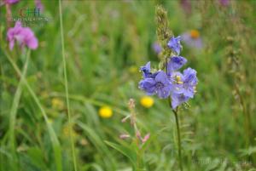
<path id="1" fill-rule="evenodd" d="M 68 116 L 68 132 L 71 141 L 72 147 L 72 156 L 73 156 L 73 168 L 77 171 L 77 162 L 75 156 L 75 148 L 72 134 L 72 124 L 71 124 L 71 115 L 70 115 L 70 105 L 69 105 L 69 97 L 68 97 L 68 83 L 67 83 L 67 63 L 65 58 L 65 47 L 64 47 L 64 34 L 63 34 L 63 23 L 62 23 L 62 8 L 61 8 L 61 0 L 59 0 L 59 12 L 60 12 L 60 20 L 61 20 L 61 52 L 62 52 L 62 60 L 63 60 L 63 68 L 64 68 L 64 79 L 65 79 L 65 92 L 66 92 L 66 102 L 67 102 L 67 116 Z"/>

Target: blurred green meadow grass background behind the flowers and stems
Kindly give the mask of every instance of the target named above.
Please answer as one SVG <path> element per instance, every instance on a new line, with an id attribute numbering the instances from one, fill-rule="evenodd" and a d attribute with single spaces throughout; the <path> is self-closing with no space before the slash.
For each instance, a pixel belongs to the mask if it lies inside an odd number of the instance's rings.
<path id="1" fill-rule="evenodd" d="M 189 2 L 189 3 L 184 3 Z M 143 155 L 146 170 L 178 170 L 175 120 L 166 100 L 152 97 L 154 105 L 141 103 L 145 96 L 137 84 L 139 67 L 159 58 L 152 48 L 157 41 L 155 6 L 168 12 L 174 35 L 196 30 L 203 48 L 183 44 L 187 66 L 197 71 L 197 94 L 180 110 L 184 170 L 256 170 L 256 1 L 62 1 L 67 57 L 67 79 L 73 138 L 78 170 L 129 171 L 127 157 L 104 140 L 130 145 L 119 134 L 132 133 L 121 119 L 129 114 L 128 100 L 136 100 L 137 124 L 150 140 Z M 0 170 L 73 170 L 68 134 L 67 105 L 61 58 L 58 1 L 42 1 L 49 19 L 31 26 L 39 47 L 29 60 L 26 81 L 49 117 L 59 145 L 51 145 L 49 127 L 31 92 L 21 86 L 16 105 L 15 140 L 10 112 L 20 76 L 9 62 L 25 64 L 25 51 L 9 51 L 6 9 L 0 7 Z M 188 5 L 189 4 L 189 5 Z M 33 8 L 33 1 L 11 6 Z M 11 22 L 11 26 L 14 26 Z M 186 66 L 186 67 L 187 67 Z M 101 117 L 108 105 L 113 115 Z M 12 149 L 15 147 L 15 151 Z M 56 150 L 57 149 L 57 150 Z M 59 151 L 56 152 L 56 151 Z M 61 154 L 58 156 L 57 154 Z M 56 157 L 57 155 L 57 157 Z"/>

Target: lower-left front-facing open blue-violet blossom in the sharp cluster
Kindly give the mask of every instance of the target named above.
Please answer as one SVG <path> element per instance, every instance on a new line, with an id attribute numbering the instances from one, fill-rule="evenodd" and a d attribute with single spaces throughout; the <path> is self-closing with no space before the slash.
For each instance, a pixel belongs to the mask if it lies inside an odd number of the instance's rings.
<path id="1" fill-rule="evenodd" d="M 155 77 L 146 77 L 139 83 L 139 88 L 148 95 L 157 94 L 160 99 L 166 99 L 172 89 L 172 85 L 168 80 L 166 72 L 158 71 Z"/>

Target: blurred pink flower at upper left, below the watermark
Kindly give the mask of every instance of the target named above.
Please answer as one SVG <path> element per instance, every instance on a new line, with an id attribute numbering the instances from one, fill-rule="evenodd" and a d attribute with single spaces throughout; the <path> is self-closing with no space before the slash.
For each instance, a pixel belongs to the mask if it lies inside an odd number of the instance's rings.
<path id="1" fill-rule="evenodd" d="M 33 31 L 29 27 L 22 27 L 20 21 L 15 23 L 15 27 L 9 28 L 7 40 L 9 41 L 10 50 L 14 48 L 15 41 L 18 42 L 20 48 L 23 48 L 25 45 L 31 49 L 38 48 L 37 37 L 34 36 Z"/>

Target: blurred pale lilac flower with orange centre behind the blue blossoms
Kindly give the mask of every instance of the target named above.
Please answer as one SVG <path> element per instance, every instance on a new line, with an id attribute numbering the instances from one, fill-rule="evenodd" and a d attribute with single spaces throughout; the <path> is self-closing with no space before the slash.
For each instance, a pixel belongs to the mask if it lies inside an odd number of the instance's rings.
<path id="1" fill-rule="evenodd" d="M 183 35 L 181 37 L 182 37 L 181 40 L 190 48 L 202 48 L 203 47 L 200 33 L 197 30 L 185 32 L 185 33 L 183 33 Z"/>

